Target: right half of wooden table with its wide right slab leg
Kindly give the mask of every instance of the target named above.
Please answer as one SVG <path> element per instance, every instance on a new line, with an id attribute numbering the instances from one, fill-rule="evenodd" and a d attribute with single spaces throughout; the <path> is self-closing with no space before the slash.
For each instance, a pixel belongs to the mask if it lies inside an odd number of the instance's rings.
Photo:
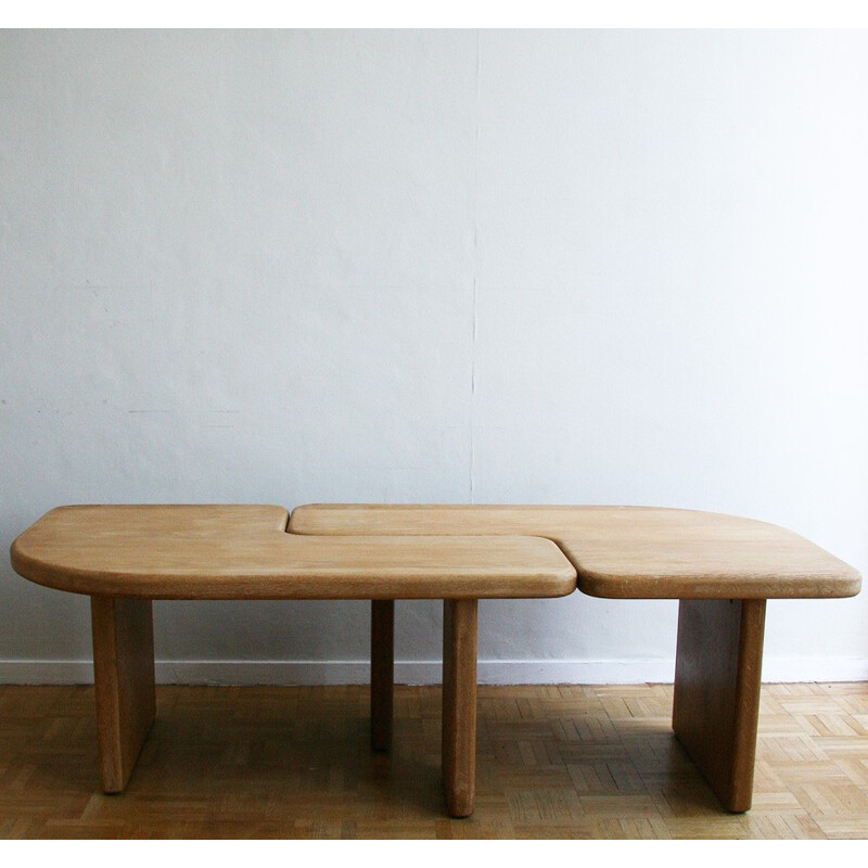
<path id="1" fill-rule="evenodd" d="M 733 812 L 748 810 L 753 796 L 766 600 L 852 597 L 860 588 L 856 570 L 791 531 L 693 510 L 310 505 L 293 511 L 290 529 L 532 534 L 559 545 L 587 595 L 679 600 L 673 729 Z"/>

